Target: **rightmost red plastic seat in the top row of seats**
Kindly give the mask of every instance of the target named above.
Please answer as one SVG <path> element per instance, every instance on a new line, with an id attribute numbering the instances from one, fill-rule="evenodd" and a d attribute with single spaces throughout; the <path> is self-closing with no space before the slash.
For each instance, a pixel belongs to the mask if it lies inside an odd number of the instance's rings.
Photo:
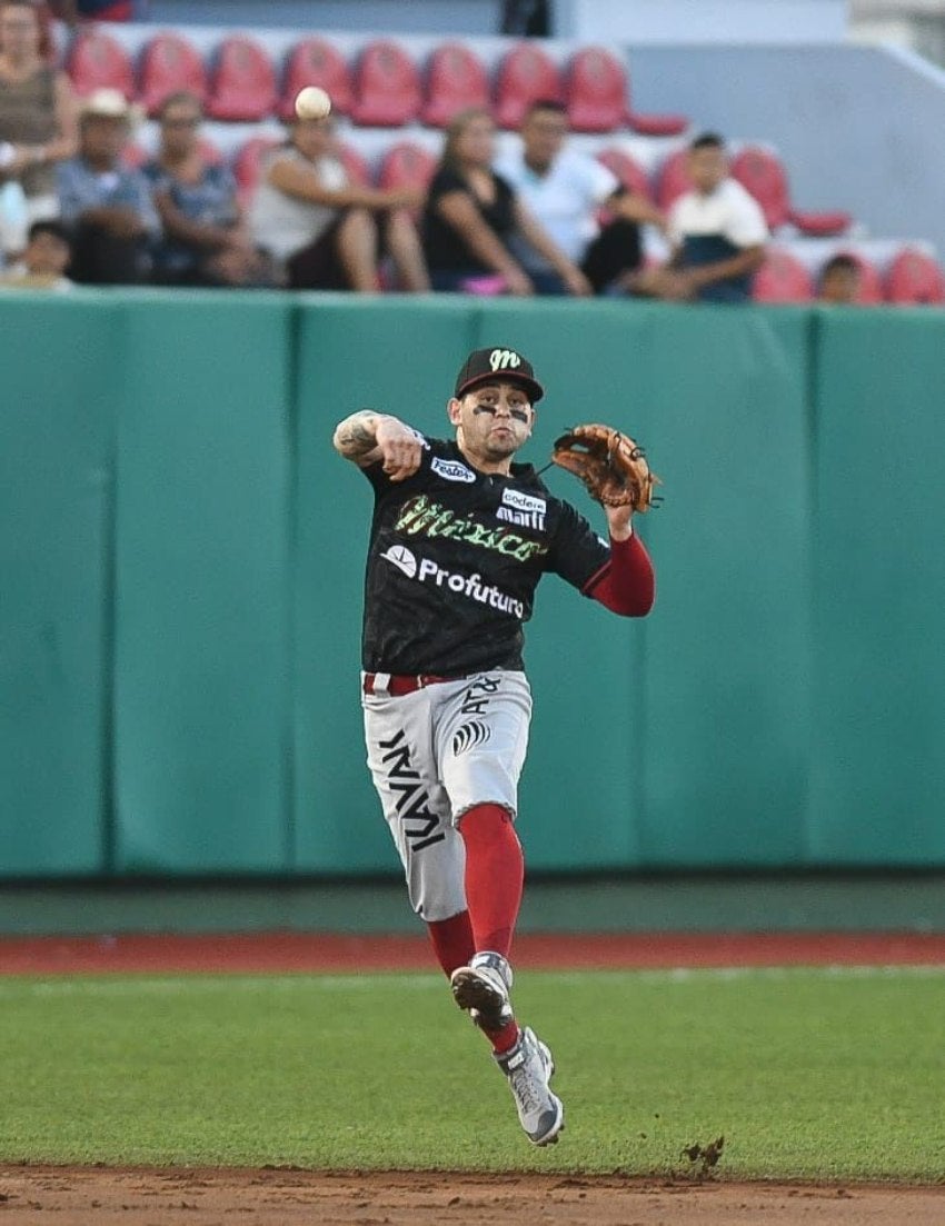
<path id="1" fill-rule="evenodd" d="M 576 132 L 612 132 L 629 124 L 646 136 L 677 136 L 689 123 L 683 115 L 636 114 L 624 65 L 602 47 L 583 47 L 571 56 L 565 98 Z"/>

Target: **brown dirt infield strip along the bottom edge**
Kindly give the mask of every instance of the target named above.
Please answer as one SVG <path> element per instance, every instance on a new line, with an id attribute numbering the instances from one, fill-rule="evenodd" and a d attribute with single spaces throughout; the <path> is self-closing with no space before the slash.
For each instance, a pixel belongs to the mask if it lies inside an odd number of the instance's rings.
<path id="1" fill-rule="evenodd" d="M 945 1189 L 0 1167 L 2 1226 L 941 1226 Z"/>

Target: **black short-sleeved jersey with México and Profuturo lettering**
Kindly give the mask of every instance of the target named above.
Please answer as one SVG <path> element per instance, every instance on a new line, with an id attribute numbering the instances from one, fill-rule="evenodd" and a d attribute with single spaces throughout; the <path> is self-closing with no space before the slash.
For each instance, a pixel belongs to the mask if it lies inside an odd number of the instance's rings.
<path id="1" fill-rule="evenodd" d="M 368 672 L 462 676 L 522 667 L 522 625 L 554 571 L 579 590 L 609 547 L 531 465 L 482 473 L 456 443 L 427 439 L 417 472 L 363 470 L 375 504 L 364 596 Z"/>

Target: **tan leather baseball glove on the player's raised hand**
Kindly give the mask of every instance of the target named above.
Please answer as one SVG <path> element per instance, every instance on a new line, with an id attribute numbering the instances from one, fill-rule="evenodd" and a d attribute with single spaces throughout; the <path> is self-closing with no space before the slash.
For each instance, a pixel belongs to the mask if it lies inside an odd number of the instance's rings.
<path id="1" fill-rule="evenodd" d="M 580 477 L 591 498 L 605 506 L 648 511 L 659 478 L 629 435 L 609 425 L 575 425 L 554 441 L 554 463 Z M 658 499 L 657 499 L 658 501 Z"/>

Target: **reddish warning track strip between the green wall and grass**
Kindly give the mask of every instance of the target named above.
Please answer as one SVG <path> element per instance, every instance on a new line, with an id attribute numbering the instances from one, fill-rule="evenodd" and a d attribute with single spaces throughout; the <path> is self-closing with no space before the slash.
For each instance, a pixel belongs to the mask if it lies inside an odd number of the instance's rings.
<path id="1" fill-rule="evenodd" d="M 675 966 L 945 966 L 945 934 L 522 934 L 531 970 Z M 425 935 L 250 933 L 0 938 L 0 975 L 219 972 L 237 975 L 435 970 Z"/>

